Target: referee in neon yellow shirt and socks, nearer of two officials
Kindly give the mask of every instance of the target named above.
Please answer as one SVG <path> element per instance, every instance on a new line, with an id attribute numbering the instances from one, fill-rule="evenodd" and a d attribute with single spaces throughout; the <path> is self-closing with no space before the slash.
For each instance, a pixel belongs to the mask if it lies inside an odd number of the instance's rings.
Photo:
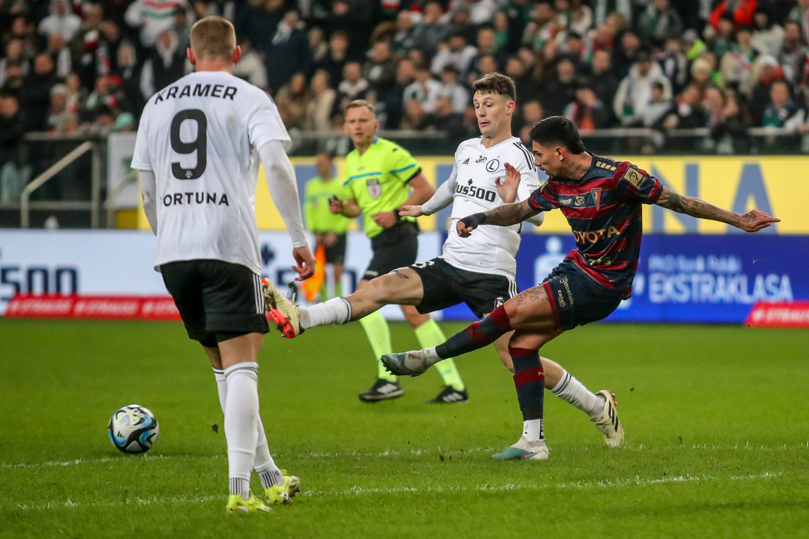
<path id="1" fill-rule="evenodd" d="M 346 199 L 332 198 L 330 210 L 350 218 L 362 214 L 362 227 L 371 239 L 374 256 L 357 285 L 359 290 L 367 286 L 372 278 L 416 261 L 419 228 L 415 218 L 400 217 L 399 209 L 423 204 L 433 195 L 434 189 L 409 151 L 376 135 L 379 121 L 376 120 L 372 104 L 365 100 L 349 103 L 345 108 L 343 129 L 354 142 L 354 151 L 345 157 Z M 409 189 L 412 189 L 411 193 Z M 419 314 L 412 305 L 402 305 L 401 308 L 421 346 L 436 346 L 443 342 L 443 332 L 429 315 Z M 379 311 L 359 322 L 365 329 L 376 358 L 392 353 L 388 322 Z M 360 400 L 375 402 L 401 397 L 404 391 L 396 376 L 388 373 L 382 363 L 377 363 L 377 380 L 370 389 L 359 394 Z M 445 359 L 436 367 L 444 384 L 456 392 L 463 392 L 466 400 L 464 382 L 455 362 L 451 358 Z M 431 402 L 444 401 L 436 397 Z"/>

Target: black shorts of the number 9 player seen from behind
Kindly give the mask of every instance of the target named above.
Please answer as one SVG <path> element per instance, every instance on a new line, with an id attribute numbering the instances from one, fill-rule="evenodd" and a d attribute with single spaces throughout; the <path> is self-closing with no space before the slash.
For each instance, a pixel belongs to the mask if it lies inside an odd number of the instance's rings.
<path id="1" fill-rule="evenodd" d="M 267 333 L 260 277 L 244 265 L 188 260 L 160 266 L 188 338 L 216 346 L 217 334 Z"/>

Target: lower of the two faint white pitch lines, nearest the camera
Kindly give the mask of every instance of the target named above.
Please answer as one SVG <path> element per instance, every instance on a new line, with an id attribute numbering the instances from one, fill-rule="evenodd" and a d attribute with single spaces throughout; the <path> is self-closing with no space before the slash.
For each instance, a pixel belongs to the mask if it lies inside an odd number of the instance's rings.
<path id="1" fill-rule="evenodd" d="M 768 479 L 770 477 L 780 477 L 783 473 L 759 473 L 755 475 L 733 475 L 730 477 L 715 477 L 707 475 L 680 475 L 676 477 L 663 477 L 660 479 L 618 479 L 615 481 L 599 481 L 599 482 L 568 482 L 568 483 L 544 483 L 541 485 L 524 485 L 524 484 L 506 484 L 506 485 L 478 485 L 474 487 L 466 486 L 400 486 L 388 488 L 363 488 L 362 486 L 352 486 L 347 490 L 318 490 L 313 492 L 311 490 L 303 492 L 299 495 L 303 496 L 345 496 L 354 494 L 355 496 L 362 496 L 366 494 L 400 494 L 400 493 L 431 493 L 431 492 L 492 492 L 502 490 L 547 490 L 547 489 L 561 489 L 561 488 L 608 488 L 616 487 L 621 488 L 625 486 L 651 486 L 666 483 L 684 483 L 684 482 L 704 482 L 704 481 L 751 481 L 756 479 Z M 15 506 L 6 506 L 9 510 L 20 509 L 22 511 L 48 511 L 51 509 L 58 509 L 62 507 L 76 508 L 76 507 L 119 507 L 121 505 L 169 505 L 173 503 L 205 503 L 212 500 L 224 500 L 224 495 L 218 496 L 199 496 L 199 497 L 172 497 L 159 499 L 156 496 L 151 498 L 135 498 L 129 499 L 125 502 L 99 502 L 97 500 L 91 503 L 74 503 L 70 499 L 66 502 L 49 502 L 45 504 L 17 504 Z"/>

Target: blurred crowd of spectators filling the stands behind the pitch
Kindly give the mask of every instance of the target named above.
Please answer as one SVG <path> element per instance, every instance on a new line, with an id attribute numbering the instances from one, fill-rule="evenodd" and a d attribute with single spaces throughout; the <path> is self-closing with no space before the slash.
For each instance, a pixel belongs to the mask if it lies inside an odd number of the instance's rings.
<path id="1" fill-rule="evenodd" d="M 0 145 L 137 128 L 149 96 L 193 69 L 205 15 L 235 24 L 235 74 L 290 130 L 340 129 L 364 98 L 383 129 L 475 136 L 470 83 L 499 71 L 523 138 L 552 115 L 809 131 L 809 0 L 0 0 Z"/>

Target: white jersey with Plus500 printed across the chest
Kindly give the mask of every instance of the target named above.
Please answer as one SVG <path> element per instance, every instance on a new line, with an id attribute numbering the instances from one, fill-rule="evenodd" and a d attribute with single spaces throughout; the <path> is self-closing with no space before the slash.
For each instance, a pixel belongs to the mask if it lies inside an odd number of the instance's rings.
<path id="1" fill-rule="evenodd" d="M 461 142 L 455 151 L 455 166 L 447 180 L 455 184 L 451 185 L 452 213 L 441 257 L 456 268 L 515 278 L 515 256 L 522 225 L 481 225 L 468 238 L 461 238 L 455 230 L 459 219 L 504 204 L 494 180 L 506 177 L 506 163 L 521 173 L 517 201 L 525 200 L 539 189 L 533 155 L 517 137 L 490 148 L 483 146 L 480 137 L 470 138 Z"/>

